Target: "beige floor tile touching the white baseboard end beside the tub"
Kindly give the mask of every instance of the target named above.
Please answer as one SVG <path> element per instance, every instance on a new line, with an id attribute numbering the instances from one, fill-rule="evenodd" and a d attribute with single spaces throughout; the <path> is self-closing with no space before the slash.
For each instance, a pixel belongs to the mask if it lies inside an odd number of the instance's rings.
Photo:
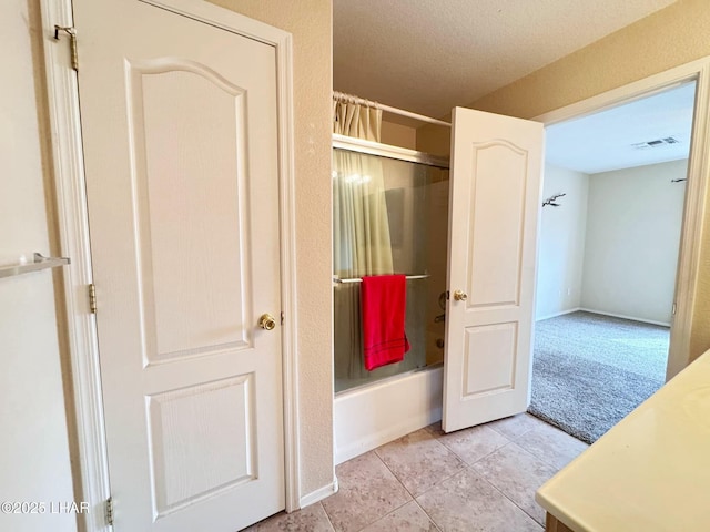
<path id="1" fill-rule="evenodd" d="M 412 500 L 374 452 L 342 463 L 336 475 L 338 492 L 322 503 L 337 532 L 362 530 Z"/>

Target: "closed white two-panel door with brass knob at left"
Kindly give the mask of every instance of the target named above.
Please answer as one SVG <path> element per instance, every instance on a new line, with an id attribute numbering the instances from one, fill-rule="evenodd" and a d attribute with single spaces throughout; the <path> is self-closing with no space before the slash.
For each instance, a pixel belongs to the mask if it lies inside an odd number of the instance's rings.
<path id="1" fill-rule="evenodd" d="M 275 51 L 74 16 L 114 530 L 234 532 L 285 498 Z"/>

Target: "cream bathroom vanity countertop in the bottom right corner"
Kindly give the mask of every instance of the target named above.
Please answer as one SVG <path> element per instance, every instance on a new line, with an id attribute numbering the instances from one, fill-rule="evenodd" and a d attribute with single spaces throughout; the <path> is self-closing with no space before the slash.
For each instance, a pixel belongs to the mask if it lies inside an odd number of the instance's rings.
<path id="1" fill-rule="evenodd" d="M 536 493 L 547 530 L 710 530 L 710 351 Z"/>

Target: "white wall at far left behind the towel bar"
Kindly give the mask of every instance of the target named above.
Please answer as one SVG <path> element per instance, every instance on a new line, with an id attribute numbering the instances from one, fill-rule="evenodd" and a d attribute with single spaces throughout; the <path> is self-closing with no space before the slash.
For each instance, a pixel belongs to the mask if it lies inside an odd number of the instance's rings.
<path id="1" fill-rule="evenodd" d="M 40 133 L 44 124 L 38 125 L 36 92 L 41 62 L 33 59 L 41 45 L 38 13 L 36 1 L 0 2 L 3 264 L 17 262 L 20 254 L 49 253 Z M 43 89 L 38 92 L 41 100 Z M 0 279 L 0 501 L 73 501 L 51 273 Z M 77 530 L 74 515 L 47 510 L 41 515 L 0 512 L 0 530 Z"/>

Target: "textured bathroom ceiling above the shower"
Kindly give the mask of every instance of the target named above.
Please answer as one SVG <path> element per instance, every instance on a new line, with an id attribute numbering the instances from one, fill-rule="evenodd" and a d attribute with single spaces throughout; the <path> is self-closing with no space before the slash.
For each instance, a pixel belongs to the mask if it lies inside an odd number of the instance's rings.
<path id="1" fill-rule="evenodd" d="M 334 0 L 334 90 L 445 116 L 674 0 Z"/>

